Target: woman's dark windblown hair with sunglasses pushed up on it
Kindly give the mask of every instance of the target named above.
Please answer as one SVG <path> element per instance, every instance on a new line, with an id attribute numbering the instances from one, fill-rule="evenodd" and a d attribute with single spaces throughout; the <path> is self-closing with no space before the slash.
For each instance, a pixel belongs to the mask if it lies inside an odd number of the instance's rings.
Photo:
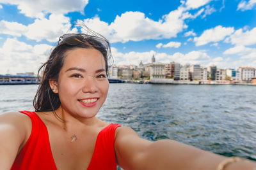
<path id="1" fill-rule="evenodd" d="M 61 67 L 65 60 L 65 53 L 74 48 L 95 48 L 102 53 L 108 73 L 109 59 L 112 59 L 109 42 L 100 34 L 64 34 L 58 45 L 54 47 L 49 59 L 39 68 L 38 80 L 40 85 L 33 100 L 35 111 L 54 111 L 60 107 L 58 94 L 52 92 L 49 80 L 58 81 Z M 54 114 L 55 111 L 54 111 Z M 58 115 L 57 115 L 58 116 Z"/>

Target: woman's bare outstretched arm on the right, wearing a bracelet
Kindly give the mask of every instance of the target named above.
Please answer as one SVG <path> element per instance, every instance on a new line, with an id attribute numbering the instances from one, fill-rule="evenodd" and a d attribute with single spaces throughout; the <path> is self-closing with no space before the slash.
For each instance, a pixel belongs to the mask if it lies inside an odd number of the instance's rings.
<path id="1" fill-rule="evenodd" d="M 150 142 L 141 139 L 128 127 L 116 130 L 116 157 L 126 169 L 209 169 L 216 170 L 227 157 L 200 150 L 172 140 Z M 253 169 L 255 162 L 241 161 L 227 164 L 227 169 Z"/>

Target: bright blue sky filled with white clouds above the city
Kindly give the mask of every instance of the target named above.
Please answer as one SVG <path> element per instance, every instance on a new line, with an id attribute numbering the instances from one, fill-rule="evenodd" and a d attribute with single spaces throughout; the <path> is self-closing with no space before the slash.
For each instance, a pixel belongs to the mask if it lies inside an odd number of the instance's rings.
<path id="1" fill-rule="evenodd" d="M 256 0 L 0 0 L 0 74 L 34 72 L 76 22 L 142 61 L 256 67 Z"/>

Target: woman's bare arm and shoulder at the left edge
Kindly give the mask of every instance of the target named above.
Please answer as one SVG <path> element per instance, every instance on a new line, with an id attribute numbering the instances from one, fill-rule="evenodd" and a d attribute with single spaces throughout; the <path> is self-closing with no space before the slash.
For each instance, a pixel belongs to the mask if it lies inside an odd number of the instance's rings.
<path id="1" fill-rule="evenodd" d="M 22 113 L 4 113 L 0 115 L 0 167 L 10 169 L 30 135 L 31 121 Z"/>

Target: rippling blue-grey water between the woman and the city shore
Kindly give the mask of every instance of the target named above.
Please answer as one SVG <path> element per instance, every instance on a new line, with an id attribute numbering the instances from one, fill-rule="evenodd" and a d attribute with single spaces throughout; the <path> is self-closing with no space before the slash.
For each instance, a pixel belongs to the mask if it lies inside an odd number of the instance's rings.
<path id="1" fill-rule="evenodd" d="M 33 110 L 36 85 L 0 86 L 0 113 Z M 110 84 L 98 117 L 146 139 L 256 160 L 256 87 Z"/>

